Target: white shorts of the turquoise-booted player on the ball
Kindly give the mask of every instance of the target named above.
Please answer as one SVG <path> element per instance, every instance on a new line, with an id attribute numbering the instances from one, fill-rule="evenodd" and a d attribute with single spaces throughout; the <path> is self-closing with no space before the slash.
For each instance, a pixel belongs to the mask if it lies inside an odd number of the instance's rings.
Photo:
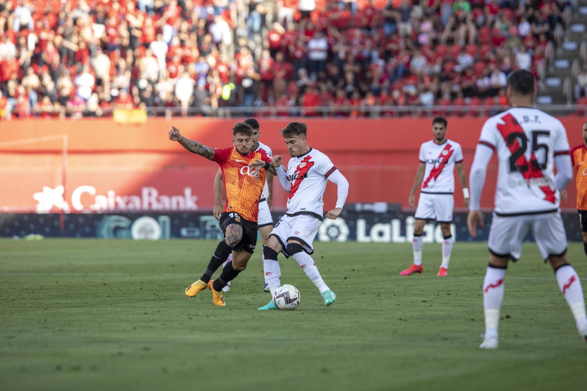
<path id="1" fill-rule="evenodd" d="M 303 251 L 312 255 L 314 252 L 312 242 L 314 241 L 321 224 L 322 221 L 308 214 L 297 216 L 288 216 L 284 214 L 284 217 L 275 224 L 269 237 L 274 236 L 277 238 L 283 249 L 282 252 L 288 258 L 289 254 L 286 245 L 290 239 L 301 242 Z"/>

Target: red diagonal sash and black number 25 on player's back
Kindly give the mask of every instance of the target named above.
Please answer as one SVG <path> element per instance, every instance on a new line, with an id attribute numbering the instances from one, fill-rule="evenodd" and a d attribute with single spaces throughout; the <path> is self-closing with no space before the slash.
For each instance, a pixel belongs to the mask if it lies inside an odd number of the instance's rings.
<path id="1" fill-rule="evenodd" d="M 542 170 L 546 168 L 546 157 L 548 156 L 548 146 L 538 144 L 538 136 L 548 136 L 548 131 L 534 131 L 532 132 L 532 155 L 530 161 L 526 159 L 524 153 L 528 148 L 528 139 L 524 133 L 524 129 L 520 126 L 518 121 L 512 116 L 512 114 L 506 114 L 501 117 L 501 120 L 505 124 L 497 124 L 497 130 L 501 133 L 505 143 L 511 152 L 510 161 L 510 173 L 519 172 L 522 174 L 525 180 L 528 181 L 530 186 L 531 178 L 544 178 Z M 544 149 L 545 161 L 543 164 L 539 164 L 534 151 Z M 542 193 L 545 195 L 545 200 L 551 203 L 555 203 L 556 197 L 554 191 L 550 186 L 539 186 Z"/>

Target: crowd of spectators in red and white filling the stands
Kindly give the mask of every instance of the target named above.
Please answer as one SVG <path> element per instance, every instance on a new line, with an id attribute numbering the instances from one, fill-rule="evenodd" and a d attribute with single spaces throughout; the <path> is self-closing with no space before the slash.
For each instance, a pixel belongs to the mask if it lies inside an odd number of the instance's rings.
<path id="1" fill-rule="evenodd" d="M 206 115 L 234 106 L 275 107 L 257 115 L 327 108 L 362 116 L 375 106 L 393 115 L 406 105 L 507 105 L 508 73 L 537 74 L 570 5 L 246 3 L 0 0 L 0 117 L 107 116 L 133 107 Z"/>

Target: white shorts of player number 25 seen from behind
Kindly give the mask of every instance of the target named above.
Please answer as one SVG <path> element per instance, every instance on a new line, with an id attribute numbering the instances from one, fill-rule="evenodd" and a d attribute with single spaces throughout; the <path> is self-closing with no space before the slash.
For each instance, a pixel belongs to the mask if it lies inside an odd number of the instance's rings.
<path id="1" fill-rule="evenodd" d="M 489 229 L 489 251 L 515 261 L 522 255 L 522 242 L 528 232 L 532 232 L 545 261 L 551 255 L 565 254 L 566 233 L 559 212 L 508 217 L 494 213 Z"/>

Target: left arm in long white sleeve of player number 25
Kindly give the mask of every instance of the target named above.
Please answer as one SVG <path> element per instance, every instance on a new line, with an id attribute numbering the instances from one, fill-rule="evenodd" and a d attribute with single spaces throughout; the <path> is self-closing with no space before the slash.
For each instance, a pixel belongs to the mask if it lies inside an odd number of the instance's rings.
<path id="1" fill-rule="evenodd" d="M 486 144 L 477 144 L 475 149 L 475 157 L 473 159 L 473 166 L 471 166 L 471 173 L 469 174 L 470 188 L 470 204 L 469 214 L 467 216 L 467 227 L 469 235 L 477 237 L 477 224 L 483 228 L 483 215 L 480 210 L 481 193 L 483 192 L 483 185 L 485 184 L 485 174 L 487 173 L 487 165 L 493 156 L 493 149 Z"/>

